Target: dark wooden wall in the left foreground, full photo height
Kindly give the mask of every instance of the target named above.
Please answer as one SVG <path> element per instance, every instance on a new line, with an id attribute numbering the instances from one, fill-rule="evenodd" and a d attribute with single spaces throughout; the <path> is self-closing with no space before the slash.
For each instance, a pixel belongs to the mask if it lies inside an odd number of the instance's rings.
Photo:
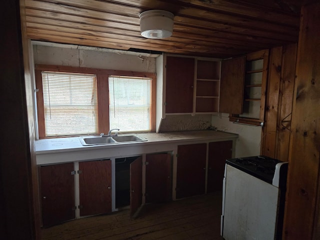
<path id="1" fill-rule="evenodd" d="M 22 44 L 28 40 L 24 35 L 22 42 L 19 3 L 19 0 L 3 0 L 0 9 L 0 238 L 34 240 L 40 237 L 36 219 L 39 207 L 34 195 L 37 178 L 33 90 L 26 91 L 29 85 L 25 79 L 30 83 L 31 78 L 27 58 L 23 58 L 28 56 L 28 48 L 23 49 Z"/>

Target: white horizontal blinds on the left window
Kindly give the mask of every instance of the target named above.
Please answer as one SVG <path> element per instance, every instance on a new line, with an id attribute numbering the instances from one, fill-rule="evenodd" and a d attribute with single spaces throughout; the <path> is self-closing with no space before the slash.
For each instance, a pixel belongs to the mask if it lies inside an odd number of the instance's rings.
<path id="1" fill-rule="evenodd" d="M 42 71 L 45 136 L 97 133 L 96 76 Z"/>

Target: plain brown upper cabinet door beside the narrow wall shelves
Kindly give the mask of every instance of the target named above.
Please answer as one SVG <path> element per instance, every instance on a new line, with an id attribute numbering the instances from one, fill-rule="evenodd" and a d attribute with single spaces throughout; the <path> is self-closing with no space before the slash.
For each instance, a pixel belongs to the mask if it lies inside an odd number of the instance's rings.
<path id="1" fill-rule="evenodd" d="M 219 112 L 241 114 L 245 56 L 221 62 Z"/>

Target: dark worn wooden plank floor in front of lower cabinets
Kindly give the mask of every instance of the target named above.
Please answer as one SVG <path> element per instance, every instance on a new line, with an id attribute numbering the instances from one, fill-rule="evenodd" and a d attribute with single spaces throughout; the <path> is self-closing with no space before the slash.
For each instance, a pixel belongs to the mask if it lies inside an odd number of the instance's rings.
<path id="1" fill-rule="evenodd" d="M 43 240 L 215 239 L 220 236 L 221 193 L 209 193 L 164 204 L 149 204 L 131 219 L 129 210 L 71 220 L 43 228 Z"/>

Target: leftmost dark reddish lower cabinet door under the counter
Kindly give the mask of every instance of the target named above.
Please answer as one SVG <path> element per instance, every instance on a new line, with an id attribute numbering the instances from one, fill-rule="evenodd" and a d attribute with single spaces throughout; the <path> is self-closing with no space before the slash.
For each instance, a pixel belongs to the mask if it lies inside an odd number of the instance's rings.
<path id="1" fill-rule="evenodd" d="M 50 226 L 73 219 L 73 162 L 40 167 L 42 224 Z"/>

